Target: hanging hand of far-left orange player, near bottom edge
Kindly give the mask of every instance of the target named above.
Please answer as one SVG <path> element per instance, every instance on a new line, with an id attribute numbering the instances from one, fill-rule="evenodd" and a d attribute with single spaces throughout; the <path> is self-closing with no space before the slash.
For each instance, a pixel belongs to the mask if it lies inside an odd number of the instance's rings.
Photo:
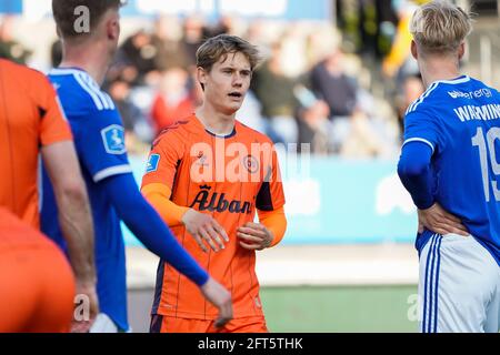
<path id="1" fill-rule="evenodd" d="M 81 316 L 80 310 L 74 310 L 73 320 L 71 322 L 71 333 L 89 333 L 90 327 L 96 321 L 97 315 L 99 314 L 99 301 L 96 292 L 96 283 L 91 282 L 79 282 L 77 281 L 76 287 L 77 295 L 86 295 L 87 300 L 84 300 L 83 304 L 77 305 L 77 307 L 83 307 L 83 314 L 87 314 L 88 317 L 83 320 L 78 320 L 77 317 Z M 87 310 L 84 310 L 87 308 Z"/>

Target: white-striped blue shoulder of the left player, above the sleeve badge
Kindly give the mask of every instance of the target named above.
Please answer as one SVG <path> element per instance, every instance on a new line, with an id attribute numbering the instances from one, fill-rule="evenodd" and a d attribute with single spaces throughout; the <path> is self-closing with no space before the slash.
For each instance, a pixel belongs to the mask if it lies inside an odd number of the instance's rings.
<path id="1" fill-rule="evenodd" d="M 90 112 L 116 111 L 110 95 L 86 71 L 56 68 L 49 78 L 63 101 L 71 101 L 72 108 Z"/>

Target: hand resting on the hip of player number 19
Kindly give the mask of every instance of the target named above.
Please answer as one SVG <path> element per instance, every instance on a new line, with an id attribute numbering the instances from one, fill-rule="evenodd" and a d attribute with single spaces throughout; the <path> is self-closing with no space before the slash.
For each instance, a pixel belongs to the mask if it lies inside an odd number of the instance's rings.
<path id="1" fill-rule="evenodd" d="M 422 233 L 423 229 L 428 229 L 441 235 L 454 233 L 469 236 L 469 232 L 460 219 L 444 211 L 438 203 L 434 203 L 427 210 L 418 210 L 418 215 L 419 233 Z"/>

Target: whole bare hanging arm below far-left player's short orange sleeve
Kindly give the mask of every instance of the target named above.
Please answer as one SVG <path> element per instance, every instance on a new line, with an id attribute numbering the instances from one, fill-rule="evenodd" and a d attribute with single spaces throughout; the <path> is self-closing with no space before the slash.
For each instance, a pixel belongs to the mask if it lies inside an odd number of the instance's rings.
<path id="1" fill-rule="evenodd" d="M 93 320 L 99 313 L 96 293 L 93 224 L 77 153 L 72 141 L 43 146 L 41 153 L 53 186 L 59 223 L 77 278 L 77 294 L 89 296 L 90 318 Z"/>

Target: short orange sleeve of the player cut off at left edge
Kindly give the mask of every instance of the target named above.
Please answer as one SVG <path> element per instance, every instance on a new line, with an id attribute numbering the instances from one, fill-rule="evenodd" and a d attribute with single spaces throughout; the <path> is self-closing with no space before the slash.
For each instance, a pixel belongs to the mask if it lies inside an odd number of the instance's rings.
<path id="1" fill-rule="evenodd" d="M 71 128 L 62 111 L 59 97 L 52 84 L 46 77 L 40 77 L 39 92 L 37 97 L 38 111 L 40 114 L 40 141 L 42 145 L 57 142 L 71 141 Z"/>

